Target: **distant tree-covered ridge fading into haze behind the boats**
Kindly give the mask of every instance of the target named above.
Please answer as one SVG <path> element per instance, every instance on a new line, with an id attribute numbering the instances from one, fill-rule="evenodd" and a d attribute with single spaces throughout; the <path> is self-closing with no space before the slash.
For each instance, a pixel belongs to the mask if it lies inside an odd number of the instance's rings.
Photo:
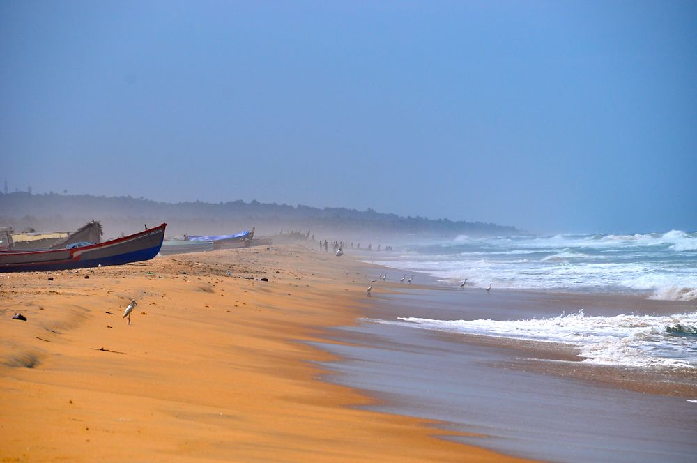
<path id="1" fill-rule="evenodd" d="M 155 202 L 130 196 L 59 195 L 28 192 L 0 193 L 0 227 L 15 233 L 29 227 L 37 232 L 70 232 L 90 220 L 99 220 L 106 238 L 132 234 L 167 222 L 167 235 L 232 234 L 256 227 L 256 236 L 298 230 L 332 236 L 469 236 L 510 235 L 519 231 L 493 223 L 453 222 L 424 217 L 401 217 L 368 208 L 314 208 L 257 201 Z"/>

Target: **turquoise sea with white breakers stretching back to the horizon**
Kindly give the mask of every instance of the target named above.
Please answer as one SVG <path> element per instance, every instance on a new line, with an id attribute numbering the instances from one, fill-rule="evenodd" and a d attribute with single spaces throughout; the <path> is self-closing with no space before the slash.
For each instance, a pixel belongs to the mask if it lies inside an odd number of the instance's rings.
<path id="1" fill-rule="evenodd" d="M 378 264 L 429 273 L 451 284 L 559 291 L 629 292 L 697 300 L 697 233 L 459 236 L 413 245 Z"/>

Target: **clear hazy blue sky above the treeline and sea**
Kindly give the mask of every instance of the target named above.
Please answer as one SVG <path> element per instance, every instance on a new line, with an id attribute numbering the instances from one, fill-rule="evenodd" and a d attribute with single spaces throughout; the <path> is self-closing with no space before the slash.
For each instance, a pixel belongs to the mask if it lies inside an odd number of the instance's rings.
<path id="1" fill-rule="evenodd" d="M 3 0 L 0 158 L 10 191 L 694 231 L 697 1 Z"/>

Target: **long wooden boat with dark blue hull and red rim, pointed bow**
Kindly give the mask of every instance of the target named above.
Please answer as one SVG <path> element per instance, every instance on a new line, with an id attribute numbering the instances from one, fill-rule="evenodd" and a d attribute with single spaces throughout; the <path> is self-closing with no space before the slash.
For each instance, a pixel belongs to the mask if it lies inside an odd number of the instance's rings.
<path id="1" fill-rule="evenodd" d="M 144 232 L 93 245 L 73 243 L 70 248 L 43 251 L 0 250 L 0 272 L 70 270 L 152 259 L 160 252 L 166 226 L 163 223 Z"/>

